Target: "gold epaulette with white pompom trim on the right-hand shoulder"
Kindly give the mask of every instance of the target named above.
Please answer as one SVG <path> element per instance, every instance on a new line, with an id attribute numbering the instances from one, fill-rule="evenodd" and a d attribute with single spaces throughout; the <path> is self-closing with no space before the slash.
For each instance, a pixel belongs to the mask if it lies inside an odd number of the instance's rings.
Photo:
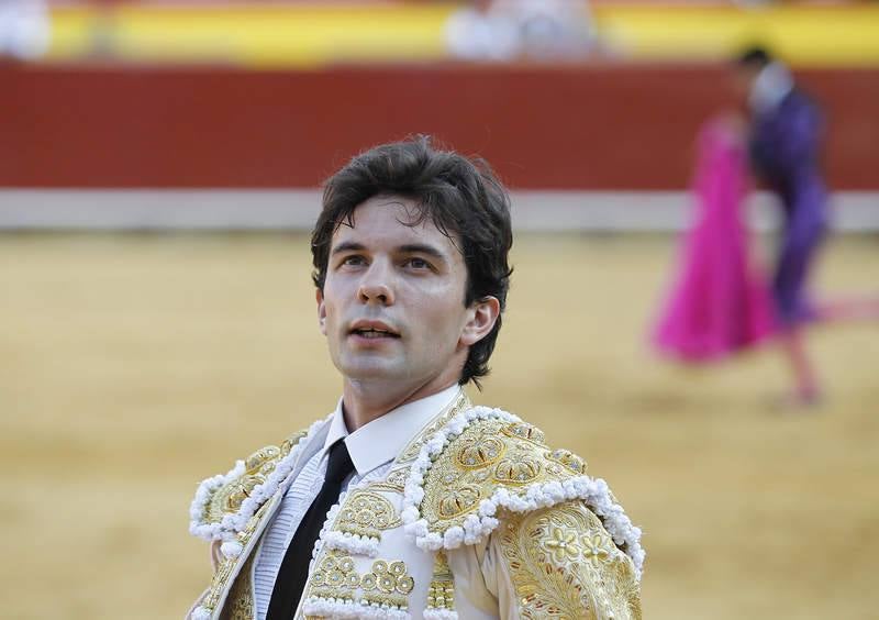
<path id="1" fill-rule="evenodd" d="M 403 498 L 405 531 L 421 549 L 456 549 L 485 540 L 503 511 L 531 512 L 579 499 L 639 576 L 641 530 L 608 484 L 586 469 L 582 458 L 549 449 L 544 433 L 516 416 L 474 407 L 427 440 L 412 465 Z"/>

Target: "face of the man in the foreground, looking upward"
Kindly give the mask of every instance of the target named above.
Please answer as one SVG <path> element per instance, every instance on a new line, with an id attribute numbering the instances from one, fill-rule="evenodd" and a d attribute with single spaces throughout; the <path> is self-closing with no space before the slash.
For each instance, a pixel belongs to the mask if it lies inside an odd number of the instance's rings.
<path id="1" fill-rule="evenodd" d="M 475 342 L 464 257 L 430 218 L 407 225 L 416 213 L 410 199 L 374 197 L 333 235 L 318 313 L 348 380 L 450 384 Z"/>

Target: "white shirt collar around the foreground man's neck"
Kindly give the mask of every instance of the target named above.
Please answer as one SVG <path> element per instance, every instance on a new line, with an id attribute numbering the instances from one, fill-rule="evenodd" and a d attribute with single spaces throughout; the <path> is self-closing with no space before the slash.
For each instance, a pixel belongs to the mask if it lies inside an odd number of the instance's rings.
<path id="1" fill-rule="evenodd" d="M 324 451 L 344 439 L 357 475 L 364 477 L 376 467 L 393 461 L 415 433 L 450 405 L 460 391 L 460 386 L 454 385 L 426 398 L 407 402 L 364 424 L 353 433 L 348 433 L 345 427 L 340 398 L 330 422 Z"/>

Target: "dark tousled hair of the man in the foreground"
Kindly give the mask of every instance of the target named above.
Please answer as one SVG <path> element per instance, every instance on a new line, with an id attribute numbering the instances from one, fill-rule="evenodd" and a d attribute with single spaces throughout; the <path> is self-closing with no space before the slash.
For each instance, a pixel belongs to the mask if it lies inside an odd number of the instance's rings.
<path id="1" fill-rule="evenodd" d="M 489 296 L 507 306 L 512 269 L 508 254 L 513 244 L 510 199 L 483 159 L 438 151 L 427 136 L 382 144 L 354 157 L 330 177 L 323 190 L 323 209 L 311 236 L 312 279 L 323 290 L 333 233 L 354 225 L 354 210 L 374 196 L 393 195 L 413 200 L 419 208 L 407 225 L 430 218 L 464 256 L 467 286 L 463 303 L 469 307 Z M 470 346 L 458 383 L 489 373 L 501 317 L 482 340 Z"/>

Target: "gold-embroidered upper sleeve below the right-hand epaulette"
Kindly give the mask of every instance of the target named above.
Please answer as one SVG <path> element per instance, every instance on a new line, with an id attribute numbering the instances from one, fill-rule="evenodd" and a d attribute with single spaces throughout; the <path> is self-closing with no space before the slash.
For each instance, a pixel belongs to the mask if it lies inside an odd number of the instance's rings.
<path id="1" fill-rule="evenodd" d="M 500 544 L 522 618 L 641 618 L 631 560 L 581 501 L 510 516 Z"/>

